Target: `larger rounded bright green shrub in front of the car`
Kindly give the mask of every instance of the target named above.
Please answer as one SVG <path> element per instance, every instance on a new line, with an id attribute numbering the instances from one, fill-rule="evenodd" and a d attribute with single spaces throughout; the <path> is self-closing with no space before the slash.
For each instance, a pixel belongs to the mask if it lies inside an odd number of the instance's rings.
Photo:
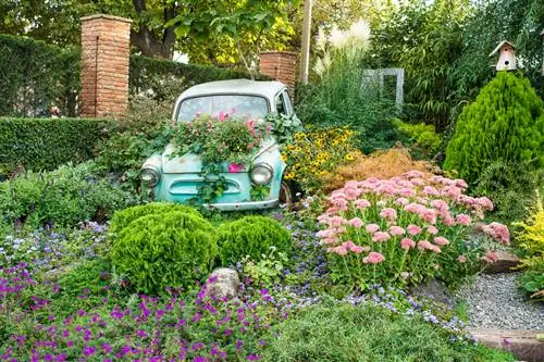
<path id="1" fill-rule="evenodd" d="M 200 216 L 173 211 L 136 219 L 116 238 L 112 264 L 144 292 L 202 280 L 217 255 L 213 227 Z"/>

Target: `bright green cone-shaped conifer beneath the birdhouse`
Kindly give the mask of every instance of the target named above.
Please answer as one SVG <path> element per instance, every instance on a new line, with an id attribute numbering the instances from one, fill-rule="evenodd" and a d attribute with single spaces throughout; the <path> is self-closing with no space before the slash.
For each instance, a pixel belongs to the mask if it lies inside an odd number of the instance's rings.
<path id="1" fill-rule="evenodd" d="M 527 78 L 499 72 L 459 115 L 444 167 L 473 183 L 497 160 L 544 166 L 543 109 Z"/>

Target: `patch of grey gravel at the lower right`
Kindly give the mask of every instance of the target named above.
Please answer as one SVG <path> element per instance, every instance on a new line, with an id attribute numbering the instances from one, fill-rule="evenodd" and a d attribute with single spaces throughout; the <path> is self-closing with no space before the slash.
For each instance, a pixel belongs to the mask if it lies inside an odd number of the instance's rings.
<path id="1" fill-rule="evenodd" d="M 471 328 L 544 330 L 544 304 L 527 302 L 516 283 L 519 273 L 480 274 L 458 291 L 468 304 Z"/>

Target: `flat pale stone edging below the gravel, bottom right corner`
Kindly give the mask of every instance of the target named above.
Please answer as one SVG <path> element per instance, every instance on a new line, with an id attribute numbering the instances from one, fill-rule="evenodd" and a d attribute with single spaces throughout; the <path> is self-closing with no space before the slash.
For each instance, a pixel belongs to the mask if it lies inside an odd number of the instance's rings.
<path id="1" fill-rule="evenodd" d="M 469 333 L 479 342 L 510 351 L 520 361 L 544 361 L 544 340 L 539 339 L 543 330 L 471 329 Z"/>

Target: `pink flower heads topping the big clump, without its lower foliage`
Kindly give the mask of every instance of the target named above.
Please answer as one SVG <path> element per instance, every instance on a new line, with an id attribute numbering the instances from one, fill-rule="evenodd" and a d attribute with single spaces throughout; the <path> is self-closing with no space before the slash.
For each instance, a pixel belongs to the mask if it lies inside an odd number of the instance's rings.
<path id="1" fill-rule="evenodd" d="M 410 250 L 442 253 L 453 242 L 465 242 L 466 230 L 493 210 L 490 199 L 465 195 L 467 187 L 462 179 L 419 171 L 390 179 L 349 180 L 329 196 L 329 209 L 318 217 L 326 228 L 318 237 L 330 253 L 368 253 L 361 259 L 368 264 L 386 260 L 391 242 L 403 249 L 405 258 Z M 483 230 L 499 242 L 509 242 L 508 228 L 502 224 L 492 223 Z M 448 233 L 453 237 L 446 237 Z M 455 258 L 459 263 L 467 261 L 466 255 Z"/>

